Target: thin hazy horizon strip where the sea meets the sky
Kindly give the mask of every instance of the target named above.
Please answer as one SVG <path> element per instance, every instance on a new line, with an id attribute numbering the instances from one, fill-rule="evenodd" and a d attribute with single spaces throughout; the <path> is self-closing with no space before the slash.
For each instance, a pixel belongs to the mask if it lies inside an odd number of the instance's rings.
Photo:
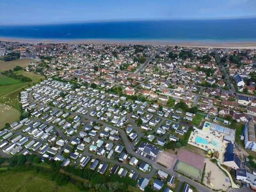
<path id="1" fill-rule="evenodd" d="M 67 21 L 67 22 L 52 22 L 52 23 L 6 23 L 0 26 L 43 26 L 43 25 L 63 25 L 63 24 L 78 24 L 78 23 L 111 23 L 111 22 L 130 22 L 130 21 L 186 21 L 186 20 L 237 20 L 237 19 L 256 19 L 256 16 L 252 17 L 208 17 L 208 18 L 173 18 L 173 19 L 163 19 L 163 18 L 148 18 L 148 19 L 123 19 L 123 20 L 84 20 L 84 21 Z"/>

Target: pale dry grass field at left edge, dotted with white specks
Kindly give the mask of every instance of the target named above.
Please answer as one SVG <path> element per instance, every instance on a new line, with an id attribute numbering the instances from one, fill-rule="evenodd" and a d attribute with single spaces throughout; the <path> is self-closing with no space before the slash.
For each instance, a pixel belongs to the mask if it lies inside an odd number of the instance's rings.
<path id="1" fill-rule="evenodd" d="M 0 130 L 4 128 L 6 123 L 11 124 L 17 121 L 19 117 L 20 111 L 0 103 Z"/>

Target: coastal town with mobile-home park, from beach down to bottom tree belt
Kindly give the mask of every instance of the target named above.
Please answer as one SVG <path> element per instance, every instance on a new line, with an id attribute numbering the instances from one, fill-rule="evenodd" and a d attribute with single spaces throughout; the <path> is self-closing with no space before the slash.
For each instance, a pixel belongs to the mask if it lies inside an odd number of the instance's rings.
<path id="1" fill-rule="evenodd" d="M 0 41 L 0 156 L 130 191 L 255 191 L 255 88 L 256 49 Z"/>

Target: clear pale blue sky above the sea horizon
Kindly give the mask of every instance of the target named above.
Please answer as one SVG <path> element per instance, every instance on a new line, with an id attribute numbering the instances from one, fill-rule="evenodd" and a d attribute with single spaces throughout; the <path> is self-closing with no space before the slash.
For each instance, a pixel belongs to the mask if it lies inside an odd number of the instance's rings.
<path id="1" fill-rule="evenodd" d="M 256 0 L 0 0 L 0 25 L 256 17 Z"/>

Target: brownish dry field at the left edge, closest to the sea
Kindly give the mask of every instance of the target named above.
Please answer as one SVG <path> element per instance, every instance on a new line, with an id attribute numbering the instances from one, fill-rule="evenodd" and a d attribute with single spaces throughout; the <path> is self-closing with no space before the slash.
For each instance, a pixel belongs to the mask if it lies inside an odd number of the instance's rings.
<path id="1" fill-rule="evenodd" d="M 20 67 L 27 67 L 29 66 L 30 61 L 35 61 L 33 59 L 17 59 L 14 61 L 6 61 L 6 62 L 0 62 L 0 71 L 6 71 L 6 70 L 13 70 L 14 67 L 20 66 Z"/>

